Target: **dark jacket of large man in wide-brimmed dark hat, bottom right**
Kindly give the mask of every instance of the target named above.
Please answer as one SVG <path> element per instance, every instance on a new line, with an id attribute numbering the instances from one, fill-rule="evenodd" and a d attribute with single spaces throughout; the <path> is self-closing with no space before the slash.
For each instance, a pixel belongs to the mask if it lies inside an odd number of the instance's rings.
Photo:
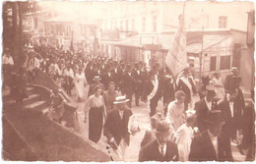
<path id="1" fill-rule="evenodd" d="M 232 161 L 230 144 L 223 137 L 218 137 L 217 155 L 208 131 L 204 131 L 193 138 L 189 161 Z"/>

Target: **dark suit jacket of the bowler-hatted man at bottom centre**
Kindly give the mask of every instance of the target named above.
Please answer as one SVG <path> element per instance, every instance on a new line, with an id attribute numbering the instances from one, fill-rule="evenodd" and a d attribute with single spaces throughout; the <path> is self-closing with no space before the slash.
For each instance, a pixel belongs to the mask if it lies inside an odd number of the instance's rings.
<path id="1" fill-rule="evenodd" d="M 178 149 L 177 145 L 172 142 L 168 141 L 166 143 L 166 152 L 165 156 L 160 155 L 159 150 L 159 143 L 157 139 L 154 141 L 148 143 L 146 146 L 141 148 L 140 154 L 139 154 L 139 162 L 143 161 L 178 161 Z"/>

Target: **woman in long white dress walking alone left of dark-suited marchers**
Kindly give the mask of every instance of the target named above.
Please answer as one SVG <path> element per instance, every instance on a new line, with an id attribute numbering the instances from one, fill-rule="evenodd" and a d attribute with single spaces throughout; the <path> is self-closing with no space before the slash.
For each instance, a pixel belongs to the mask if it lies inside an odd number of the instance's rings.
<path id="1" fill-rule="evenodd" d="M 78 95 L 78 101 L 82 102 L 82 98 L 84 97 L 85 85 L 87 84 L 87 80 L 82 68 L 79 68 L 79 71 L 74 79 L 74 84 Z"/>

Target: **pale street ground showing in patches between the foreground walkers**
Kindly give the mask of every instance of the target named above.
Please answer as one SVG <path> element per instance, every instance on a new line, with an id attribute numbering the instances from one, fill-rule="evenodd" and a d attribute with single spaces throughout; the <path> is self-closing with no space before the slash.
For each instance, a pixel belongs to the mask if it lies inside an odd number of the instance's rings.
<path id="1" fill-rule="evenodd" d="M 88 122 L 86 124 L 84 123 L 84 118 L 85 118 L 84 106 L 86 103 L 86 99 L 87 99 L 86 95 L 88 93 L 88 90 L 89 90 L 89 85 L 86 86 L 85 97 L 83 99 L 83 102 L 81 102 L 81 103 L 78 102 L 78 109 L 77 109 L 78 120 L 79 120 L 79 125 L 80 125 L 79 134 L 84 138 L 88 138 Z M 75 90 L 72 90 L 72 98 L 74 100 L 77 100 Z M 196 102 L 197 100 L 199 100 L 199 97 L 196 95 L 193 96 L 193 101 Z M 140 147 L 141 141 L 145 135 L 146 130 L 150 129 L 150 110 L 148 108 L 147 103 L 141 101 L 140 106 L 135 106 L 135 102 L 133 101 L 132 104 L 133 104 L 132 112 L 134 115 L 136 115 L 136 117 L 139 120 L 139 126 L 140 126 L 141 131 L 139 133 L 137 133 L 136 135 L 130 137 L 130 145 L 128 146 L 127 151 L 126 151 L 126 161 L 129 161 L 129 162 L 138 161 L 138 155 L 139 155 L 139 151 L 141 148 Z M 163 105 L 160 101 L 159 105 L 158 105 L 158 110 L 163 112 L 162 109 L 163 109 Z M 238 138 L 238 141 L 241 140 L 241 136 L 238 136 L 237 138 Z M 100 140 L 97 142 L 97 144 L 99 144 L 102 147 L 105 147 L 107 145 L 106 137 L 102 136 L 100 138 Z M 238 152 L 238 149 L 235 147 L 235 145 L 232 144 L 231 149 L 232 149 L 232 155 L 233 155 L 233 158 L 235 161 L 244 161 L 245 160 L 245 156 L 241 155 Z"/>

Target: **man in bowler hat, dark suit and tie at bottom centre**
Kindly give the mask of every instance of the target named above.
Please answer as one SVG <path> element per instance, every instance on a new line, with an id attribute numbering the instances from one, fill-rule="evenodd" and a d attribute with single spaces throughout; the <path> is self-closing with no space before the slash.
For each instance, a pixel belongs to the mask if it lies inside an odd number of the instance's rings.
<path id="1" fill-rule="evenodd" d="M 170 128 L 165 121 L 157 123 L 157 139 L 141 148 L 139 162 L 144 161 L 178 161 L 177 145 L 170 141 Z"/>

